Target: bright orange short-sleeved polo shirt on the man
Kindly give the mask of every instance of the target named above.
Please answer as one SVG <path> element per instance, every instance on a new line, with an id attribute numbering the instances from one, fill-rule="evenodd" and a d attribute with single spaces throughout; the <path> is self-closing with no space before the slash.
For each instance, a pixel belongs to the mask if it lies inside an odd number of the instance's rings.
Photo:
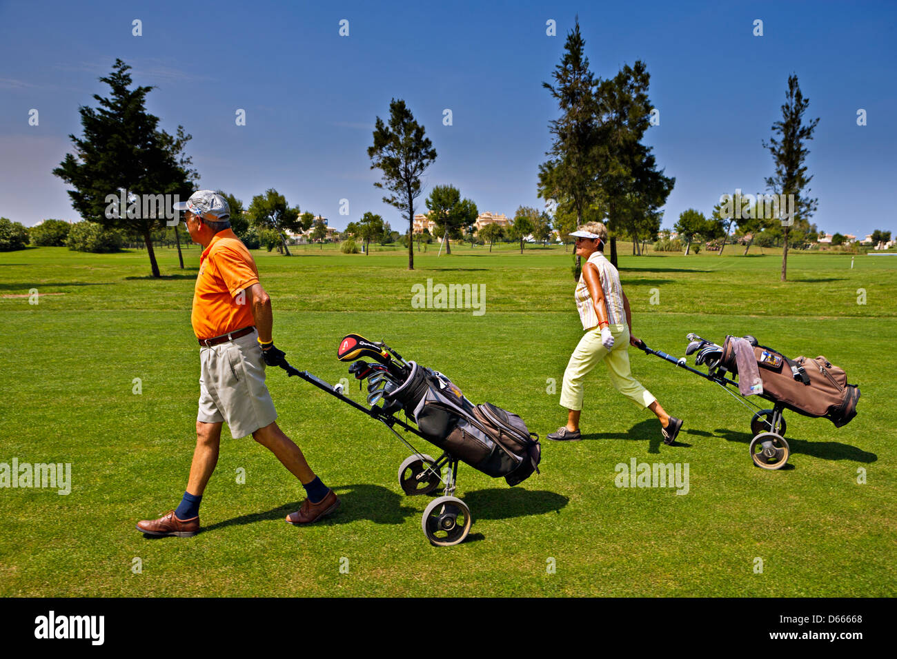
<path id="1" fill-rule="evenodd" d="M 256 261 L 230 229 L 219 231 L 199 256 L 190 322 L 197 339 L 211 339 L 255 325 L 241 290 L 258 283 Z"/>

